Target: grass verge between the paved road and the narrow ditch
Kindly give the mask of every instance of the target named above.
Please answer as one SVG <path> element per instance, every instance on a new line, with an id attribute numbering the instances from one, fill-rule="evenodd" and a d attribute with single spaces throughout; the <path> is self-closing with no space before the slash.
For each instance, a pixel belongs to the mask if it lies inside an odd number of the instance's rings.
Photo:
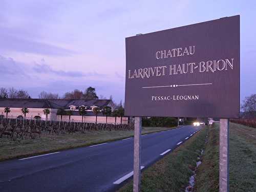
<path id="1" fill-rule="evenodd" d="M 197 157 L 205 145 L 207 130 L 205 126 L 172 153 L 144 170 L 141 191 L 184 191 L 193 174 L 191 169 L 196 167 Z M 133 191 L 133 182 L 126 183 L 118 191 Z"/>

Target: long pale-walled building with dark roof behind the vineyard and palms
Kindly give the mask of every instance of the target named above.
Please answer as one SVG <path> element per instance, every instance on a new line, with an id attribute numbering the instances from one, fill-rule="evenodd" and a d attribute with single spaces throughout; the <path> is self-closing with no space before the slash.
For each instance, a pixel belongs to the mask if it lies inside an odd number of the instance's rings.
<path id="1" fill-rule="evenodd" d="M 24 118 L 22 108 L 28 108 L 29 113 L 26 118 L 31 119 L 46 119 L 45 109 L 50 110 L 48 120 L 60 120 L 57 115 L 58 109 L 62 108 L 66 111 L 71 111 L 71 116 L 62 116 L 63 121 L 80 122 L 82 116 L 79 115 L 79 107 L 86 108 L 86 116 L 84 122 L 95 122 L 96 117 L 93 113 L 94 108 L 102 109 L 103 106 L 110 106 L 113 108 L 113 101 L 111 99 L 0 99 L 0 118 L 5 118 L 5 108 L 10 108 L 11 112 L 8 113 L 8 118 Z M 112 109 L 113 110 L 113 109 Z M 105 122 L 105 116 L 100 112 L 98 114 L 97 122 Z M 115 123 L 115 117 L 108 117 L 108 123 Z M 117 123 L 120 123 L 120 118 L 117 118 Z M 127 123 L 127 117 L 122 118 L 122 123 Z"/>

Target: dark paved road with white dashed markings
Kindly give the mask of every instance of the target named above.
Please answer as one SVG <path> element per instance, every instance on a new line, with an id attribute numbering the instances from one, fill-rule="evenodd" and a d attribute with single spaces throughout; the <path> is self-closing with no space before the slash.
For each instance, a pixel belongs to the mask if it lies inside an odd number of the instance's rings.
<path id="1" fill-rule="evenodd" d="M 189 139 L 198 127 L 142 136 L 142 166 Z M 133 138 L 0 162 L 0 191 L 113 191 L 133 170 Z M 170 151 L 172 152 L 172 151 Z M 167 154 L 167 153 L 166 153 Z M 129 174 L 130 173 L 130 174 Z M 127 175 L 128 174 L 128 175 Z"/>

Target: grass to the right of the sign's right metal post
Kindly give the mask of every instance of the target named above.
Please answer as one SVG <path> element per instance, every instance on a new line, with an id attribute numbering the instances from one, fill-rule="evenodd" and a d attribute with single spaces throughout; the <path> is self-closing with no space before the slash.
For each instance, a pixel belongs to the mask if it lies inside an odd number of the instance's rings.
<path id="1" fill-rule="evenodd" d="M 230 123 L 230 192 L 256 191 L 256 129 Z"/>

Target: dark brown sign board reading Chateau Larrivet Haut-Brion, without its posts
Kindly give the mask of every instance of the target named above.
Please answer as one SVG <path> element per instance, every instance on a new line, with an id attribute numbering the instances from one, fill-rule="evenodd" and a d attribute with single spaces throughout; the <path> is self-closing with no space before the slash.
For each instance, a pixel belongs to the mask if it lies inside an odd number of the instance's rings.
<path id="1" fill-rule="evenodd" d="M 239 15 L 125 43 L 125 115 L 239 117 Z"/>

